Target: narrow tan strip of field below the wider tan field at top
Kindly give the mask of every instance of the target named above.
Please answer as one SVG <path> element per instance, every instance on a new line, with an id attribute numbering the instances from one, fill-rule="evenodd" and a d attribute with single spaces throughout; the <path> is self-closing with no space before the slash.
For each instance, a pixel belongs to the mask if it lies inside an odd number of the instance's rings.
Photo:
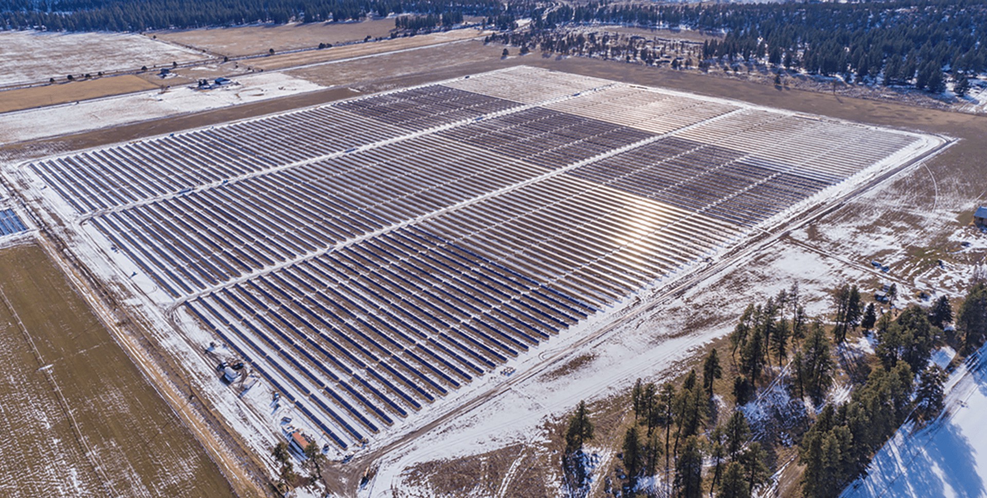
<path id="1" fill-rule="evenodd" d="M 272 55 L 263 59 L 257 59 L 254 66 L 263 69 L 281 69 L 305 64 L 318 64 L 320 62 L 347 59 L 350 57 L 360 57 L 375 53 L 390 52 L 394 50 L 417 48 L 477 36 L 482 36 L 481 32 L 476 30 L 454 30 L 445 33 L 385 39 L 368 43 L 334 46 L 332 48 L 324 48 L 322 50 L 308 50 L 304 52 L 286 53 L 283 55 Z"/>

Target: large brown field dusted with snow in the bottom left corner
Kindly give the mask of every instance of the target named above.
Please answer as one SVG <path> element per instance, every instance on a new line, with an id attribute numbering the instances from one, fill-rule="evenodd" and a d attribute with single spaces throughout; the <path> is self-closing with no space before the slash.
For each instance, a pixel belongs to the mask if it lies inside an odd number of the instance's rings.
<path id="1" fill-rule="evenodd" d="M 0 250 L 2 496 L 233 496 L 38 246 Z"/>

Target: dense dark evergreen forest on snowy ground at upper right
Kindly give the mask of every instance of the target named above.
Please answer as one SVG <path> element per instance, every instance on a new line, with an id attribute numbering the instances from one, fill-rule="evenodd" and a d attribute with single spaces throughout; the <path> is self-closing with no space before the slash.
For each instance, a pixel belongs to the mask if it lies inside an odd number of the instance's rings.
<path id="1" fill-rule="evenodd" d="M 987 4 L 973 0 L 853 3 L 589 3 L 532 11 L 534 30 L 588 23 L 689 28 L 714 34 L 705 60 L 768 64 L 848 82 L 941 93 L 948 71 L 957 93 L 987 71 Z"/>

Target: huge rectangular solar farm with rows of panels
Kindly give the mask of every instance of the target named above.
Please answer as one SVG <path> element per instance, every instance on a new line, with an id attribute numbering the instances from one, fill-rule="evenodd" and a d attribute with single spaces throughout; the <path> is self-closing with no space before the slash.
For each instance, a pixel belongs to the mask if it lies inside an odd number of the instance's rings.
<path id="1" fill-rule="evenodd" d="M 27 172 L 346 450 L 942 143 L 521 66 Z"/>

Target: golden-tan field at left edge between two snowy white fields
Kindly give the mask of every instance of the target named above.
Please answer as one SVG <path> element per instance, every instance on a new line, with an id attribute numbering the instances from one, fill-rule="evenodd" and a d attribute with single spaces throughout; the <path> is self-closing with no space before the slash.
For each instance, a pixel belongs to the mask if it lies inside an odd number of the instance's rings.
<path id="1" fill-rule="evenodd" d="M 0 112 L 31 107 L 53 106 L 69 102 L 153 90 L 158 85 L 133 75 L 97 78 L 95 80 L 56 83 L 42 87 L 22 88 L 0 92 Z"/>

